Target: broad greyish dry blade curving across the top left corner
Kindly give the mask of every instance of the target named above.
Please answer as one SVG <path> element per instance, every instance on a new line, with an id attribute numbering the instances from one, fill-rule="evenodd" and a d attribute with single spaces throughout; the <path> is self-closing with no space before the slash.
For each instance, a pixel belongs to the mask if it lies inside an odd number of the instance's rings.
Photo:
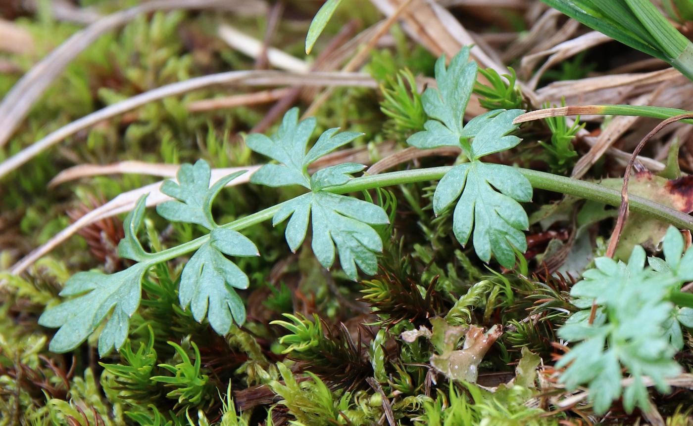
<path id="1" fill-rule="evenodd" d="M 134 8 L 103 17 L 84 30 L 73 34 L 35 64 L 3 99 L 0 104 L 0 147 L 7 143 L 33 104 L 62 73 L 67 64 L 104 33 L 119 28 L 140 15 L 157 10 L 229 8 L 233 5 L 234 2 L 228 0 L 148 1 Z"/>

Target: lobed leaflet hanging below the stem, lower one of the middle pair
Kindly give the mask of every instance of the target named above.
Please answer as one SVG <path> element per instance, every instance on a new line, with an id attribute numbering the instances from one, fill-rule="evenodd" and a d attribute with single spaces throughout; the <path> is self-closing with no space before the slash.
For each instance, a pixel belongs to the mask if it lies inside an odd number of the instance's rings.
<path id="1" fill-rule="evenodd" d="M 378 232 L 369 225 L 384 225 L 387 214 L 378 205 L 330 192 L 310 192 L 284 203 L 272 223 L 286 220 L 286 241 L 297 250 L 306 238 L 309 216 L 313 221 L 313 252 L 325 268 L 335 261 L 335 246 L 342 269 L 356 280 L 356 266 L 369 275 L 378 268 L 376 253 L 383 250 Z"/>

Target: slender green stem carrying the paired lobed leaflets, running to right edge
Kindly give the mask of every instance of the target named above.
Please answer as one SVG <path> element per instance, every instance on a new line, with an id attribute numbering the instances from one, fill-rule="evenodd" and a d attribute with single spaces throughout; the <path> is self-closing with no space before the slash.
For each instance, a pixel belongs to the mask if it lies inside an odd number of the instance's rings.
<path id="1" fill-rule="evenodd" d="M 438 180 L 442 178 L 444 174 L 446 174 L 446 172 L 448 172 L 448 170 L 451 168 L 452 166 L 429 167 L 426 169 L 413 169 L 403 170 L 401 172 L 376 174 L 374 176 L 361 176 L 359 178 L 349 180 L 349 182 L 345 183 L 344 185 L 330 187 L 325 190 L 335 194 L 344 194 L 347 192 L 365 191 L 367 189 L 376 189 L 393 185 L 405 185 L 407 183 Z M 586 182 L 585 180 L 567 178 L 565 176 L 558 176 L 556 174 L 546 172 L 537 172 L 536 170 L 518 170 L 527 178 L 527 180 L 529 180 L 532 187 L 536 189 L 545 189 L 551 192 L 559 192 L 561 194 L 577 196 L 578 198 L 597 201 L 599 203 L 613 205 L 615 207 L 618 207 L 621 203 L 621 194 L 615 189 L 597 185 L 596 183 Z M 287 201 L 284 203 L 286 202 Z M 273 205 L 272 207 L 267 207 L 259 212 L 249 214 L 243 218 L 236 219 L 235 221 L 222 225 L 221 228 L 228 228 L 238 231 L 249 228 L 252 225 L 257 225 L 258 223 L 272 219 L 272 216 L 274 216 L 274 214 L 284 203 L 279 203 L 277 205 Z M 674 210 L 670 207 L 657 203 L 656 201 L 651 201 L 640 196 L 630 196 L 629 203 L 631 210 L 635 213 L 644 214 L 654 219 L 658 219 L 659 221 L 671 223 L 679 229 L 693 231 L 693 217 L 683 212 L 679 212 L 678 210 Z M 193 250 L 197 250 L 208 240 L 209 234 L 192 241 L 188 241 L 187 243 L 183 243 L 179 246 L 175 246 L 161 252 L 152 253 L 150 257 L 144 261 L 153 265 L 155 263 L 174 259 L 175 257 L 179 257 Z"/>

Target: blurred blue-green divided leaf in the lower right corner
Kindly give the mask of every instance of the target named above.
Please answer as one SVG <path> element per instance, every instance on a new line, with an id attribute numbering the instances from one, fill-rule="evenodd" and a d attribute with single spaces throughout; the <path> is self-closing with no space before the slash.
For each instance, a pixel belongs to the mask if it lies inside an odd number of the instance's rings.
<path id="1" fill-rule="evenodd" d="M 690 279 L 693 250 L 683 253 L 683 237 L 676 228 L 667 232 L 663 248 L 665 260 L 650 258 L 648 267 L 640 246 L 635 246 L 628 263 L 600 257 L 570 292 L 579 297 L 575 304 L 586 309 L 559 330 L 561 338 L 579 343 L 556 367 L 567 367 L 560 380 L 569 389 L 589 385 L 598 413 L 621 396 L 626 411 L 635 406 L 647 410 L 649 396 L 642 377 L 650 377 L 666 392 L 665 379 L 681 372 L 673 356 L 683 346 L 679 321 L 687 322 L 687 311 L 674 308 L 669 297 Z M 599 309 L 589 324 L 592 300 Z M 621 385 L 623 367 L 633 378 L 626 389 Z"/>

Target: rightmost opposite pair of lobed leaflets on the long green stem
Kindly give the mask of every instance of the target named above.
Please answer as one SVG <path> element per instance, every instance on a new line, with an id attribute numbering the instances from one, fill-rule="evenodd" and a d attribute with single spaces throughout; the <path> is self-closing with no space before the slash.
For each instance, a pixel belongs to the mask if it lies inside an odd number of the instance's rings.
<path id="1" fill-rule="evenodd" d="M 514 167 L 483 163 L 480 158 L 516 147 L 520 138 L 513 120 L 520 109 L 496 109 L 463 125 L 464 111 L 476 80 L 477 65 L 468 62 L 463 48 L 446 68 L 445 57 L 435 68 L 438 89 L 426 89 L 423 108 L 435 120 L 425 131 L 414 133 L 407 142 L 417 148 L 460 147 L 469 163 L 450 169 L 438 183 L 433 210 L 441 214 L 457 201 L 453 233 L 463 246 L 473 237 L 474 249 L 483 261 L 491 254 L 506 268 L 515 264 L 515 249 L 525 252 L 523 230 L 529 227 L 525 210 L 518 202 L 532 199 L 532 185 Z"/>

